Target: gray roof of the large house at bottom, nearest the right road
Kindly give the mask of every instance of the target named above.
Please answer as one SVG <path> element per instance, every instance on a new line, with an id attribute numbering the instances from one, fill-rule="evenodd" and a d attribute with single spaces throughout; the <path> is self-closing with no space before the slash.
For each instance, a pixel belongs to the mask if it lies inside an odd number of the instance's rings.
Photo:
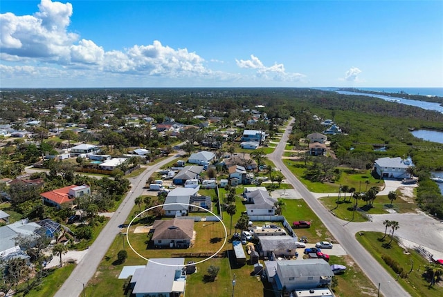
<path id="1" fill-rule="evenodd" d="M 323 259 L 277 261 L 281 278 L 305 278 L 307 276 L 334 276 L 329 264 Z"/>

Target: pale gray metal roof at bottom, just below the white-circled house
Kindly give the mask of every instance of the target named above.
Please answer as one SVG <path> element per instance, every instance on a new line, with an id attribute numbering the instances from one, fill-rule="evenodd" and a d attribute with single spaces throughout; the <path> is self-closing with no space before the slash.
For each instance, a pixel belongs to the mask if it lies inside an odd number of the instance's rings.
<path id="1" fill-rule="evenodd" d="M 136 282 L 136 285 L 132 293 L 152 294 L 171 292 L 175 280 L 175 271 L 183 267 L 185 258 L 152 258 L 150 260 L 155 263 L 150 261 L 145 268 L 136 269 L 134 272 L 132 282 Z"/>

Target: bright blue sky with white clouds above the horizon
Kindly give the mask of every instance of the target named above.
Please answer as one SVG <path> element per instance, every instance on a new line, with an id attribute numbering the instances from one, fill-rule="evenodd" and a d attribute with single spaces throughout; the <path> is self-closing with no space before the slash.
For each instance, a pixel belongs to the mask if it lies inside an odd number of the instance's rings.
<path id="1" fill-rule="evenodd" d="M 1 0 L 0 87 L 443 87 L 443 1 Z"/>

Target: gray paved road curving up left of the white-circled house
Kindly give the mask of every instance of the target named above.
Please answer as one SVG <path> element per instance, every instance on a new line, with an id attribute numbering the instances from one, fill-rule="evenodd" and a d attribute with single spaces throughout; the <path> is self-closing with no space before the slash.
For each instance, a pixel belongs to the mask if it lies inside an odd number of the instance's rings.
<path id="1" fill-rule="evenodd" d="M 100 261 L 105 256 L 105 253 L 111 246 L 114 238 L 116 238 L 120 232 L 118 226 L 125 223 L 125 220 L 131 213 L 132 207 L 134 207 L 135 198 L 143 193 L 143 186 L 145 186 L 147 178 L 149 178 L 150 175 L 161 166 L 178 157 L 180 157 L 180 155 L 168 157 L 168 159 L 165 159 L 158 164 L 148 166 L 147 169 L 136 178 L 129 179 L 132 185 L 131 191 L 127 193 L 125 200 L 123 200 L 116 213 L 114 213 L 105 228 L 100 232 L 93 245 L 89 247 L 89 252 L 84 258 L 82 258 L 72 271 L 71 276 L 69 276 L 62 287 L 57 291 L 55 297 L 78 297 L 82 294 L 83 284 L 86 285 L 89 279 L 96 273 Z"/>

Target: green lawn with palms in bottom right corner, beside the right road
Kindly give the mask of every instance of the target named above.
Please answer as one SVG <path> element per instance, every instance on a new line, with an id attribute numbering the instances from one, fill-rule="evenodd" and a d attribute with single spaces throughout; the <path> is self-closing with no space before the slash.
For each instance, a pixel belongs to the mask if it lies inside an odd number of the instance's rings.
<path id="1" fill-rule="evenodd" d="M 410 271 L 413 264 L 413 270 L 410 272 L 408 278 L 398 278 L 397 280 L 401 287 L 404 287 L 411 296 L 443 296 L 442 281 L 431 288 L 428 287 L 428 282 L 423 278 L 423 273 L 424 267 L 429 265 L 429 263 L 420 256 L 419 253 L 414 250 L 408 250 L 405 252 L 402 247 L 399 247 L 395 240 L 392 241 L 390 248 L 384 247 L 384 245 L 389 242 L 390 238 L 389 236 L 386 236 L 386 238 L 381 241 L 380 239 L 383 238 L 383 233 L 364 232 L 362 234 L 363 235 L 359 235 L 359 233 L 356 233 L 356 239 L 359 240 L 361 245 L 372 254 L 375 260 L 377 260 L 377 262 L 379 262 L 392 277 L 397 278 L 397 274 L 395 274 L 395 271 L 392 268 L 386 265 L 381 258 L 382 255 L 389 256 L 397 261 L 400 267 L 406 272 Z"/>

